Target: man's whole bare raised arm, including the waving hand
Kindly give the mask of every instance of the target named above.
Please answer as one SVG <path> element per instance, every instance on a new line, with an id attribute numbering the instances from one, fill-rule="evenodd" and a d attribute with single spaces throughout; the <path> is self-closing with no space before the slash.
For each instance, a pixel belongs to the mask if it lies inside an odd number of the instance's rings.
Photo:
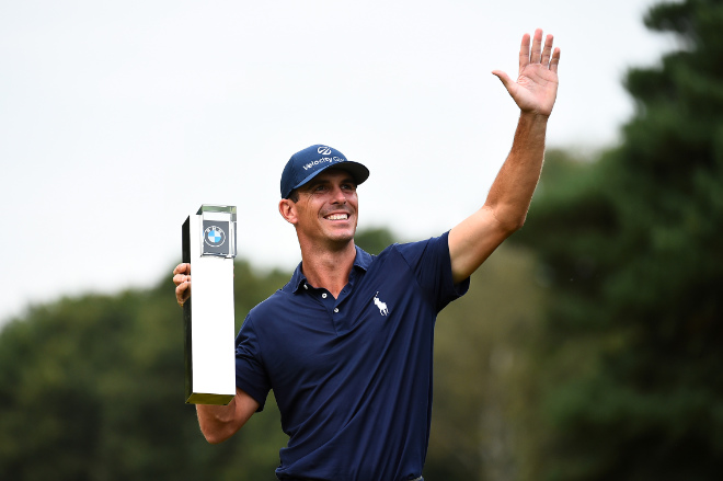
<path id="1" fill-rule="evenodd" d="M 525 34 L 519 51 L 519 75 L 513 81 L 494 70 L 520 108 L 513 147 L 495 177 L 484 206 L 449 232 L 452 277 L 469 277 L 515 230 L 523 227 L 540 179 L 548 117 L 558 94 L 560 49 L 552 35 L 542 45 L 542 31 Z"/>

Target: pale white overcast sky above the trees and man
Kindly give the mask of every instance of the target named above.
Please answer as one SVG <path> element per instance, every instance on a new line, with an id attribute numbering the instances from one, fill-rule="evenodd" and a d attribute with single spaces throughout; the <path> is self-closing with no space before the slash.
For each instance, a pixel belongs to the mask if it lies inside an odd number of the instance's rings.
<path id="1" fill-rule="evenodd" d="M 180 260 L 200 204 L 239 209 L 240 255 L 290 270 L 277 211 L 288 158 L 313 144 L 371 171 L 359 227 L 413 240 L 479 208 L 542 27 L 562 48 L 548 145 L 615 144 L 630 66 L 675 45 L 651 0 L 0 0 L 0 320 L 31 302 L 147 287 Z"/>

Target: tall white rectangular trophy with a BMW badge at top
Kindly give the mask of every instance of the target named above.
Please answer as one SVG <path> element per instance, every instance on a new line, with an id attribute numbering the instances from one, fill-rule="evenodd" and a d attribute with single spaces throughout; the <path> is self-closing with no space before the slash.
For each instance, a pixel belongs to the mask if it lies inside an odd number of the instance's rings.
<path id="1" fill-rule="evenodd" d="M 186 403 L 228 404 L 236 396 L 236 207 L 202 205 L 183 224 L 182 248 L 193 285 L 183 305 Z"/>

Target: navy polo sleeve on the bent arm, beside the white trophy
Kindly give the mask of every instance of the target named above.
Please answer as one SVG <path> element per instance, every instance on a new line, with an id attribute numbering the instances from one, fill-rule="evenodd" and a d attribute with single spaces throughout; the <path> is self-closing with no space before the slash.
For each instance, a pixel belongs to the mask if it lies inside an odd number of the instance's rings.
<path id="1" fill-rule="evenodd" d="M 251 314 L 246 316 L 236 337 L 236 386 L 251 396 L 263 411 L 271 381 L 263 366 L 259 333 Z"/>

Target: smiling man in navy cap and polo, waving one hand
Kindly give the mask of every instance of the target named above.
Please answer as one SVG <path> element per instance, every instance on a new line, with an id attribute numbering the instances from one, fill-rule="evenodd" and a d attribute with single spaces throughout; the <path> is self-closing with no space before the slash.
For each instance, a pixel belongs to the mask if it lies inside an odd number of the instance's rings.
<path id="1" fill-rule="evenodd" d="M 238 432 L 273 389 L 289 435 L 278 479 L 422 479 L 436 314 L 525 221 L 559 61 L 552 36 L 542 45 L 537 30 L 523 37 L 517 81 L 493 71 L 520 108 L 515 140 L 484 206 L 439 238 L 367 254 L 354 233 L 356 188 L 369 171 L 326 146 L 291 157 L 278 208 L 296 228 L 301 263 L 239 332 L 236 398 L 227 406 L 197 405 L 209 443 Z M 190 296 L 188 268 L 173 272 L 179 304 Z"/>

